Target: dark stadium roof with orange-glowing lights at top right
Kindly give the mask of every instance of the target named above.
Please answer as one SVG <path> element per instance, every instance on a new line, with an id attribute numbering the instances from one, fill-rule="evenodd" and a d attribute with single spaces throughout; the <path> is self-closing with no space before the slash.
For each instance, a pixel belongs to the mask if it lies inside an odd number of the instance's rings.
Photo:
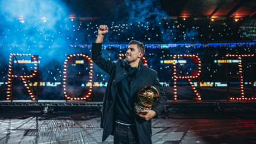
<path id="1" fill-rule="evenodd" d="M 251 18 L 256 17 L 256 1 L 250 0 L 180 0 L 161 1 L 170 16 L 182 18 Z"/>

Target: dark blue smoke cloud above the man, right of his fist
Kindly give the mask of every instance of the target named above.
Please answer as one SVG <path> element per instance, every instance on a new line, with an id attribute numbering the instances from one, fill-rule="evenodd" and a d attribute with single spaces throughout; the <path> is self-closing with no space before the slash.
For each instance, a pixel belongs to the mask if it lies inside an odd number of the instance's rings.
<path id="1" fill-rule="evenodd" d="M 145 1 L 128 1 L 119 4 L 112 16 L 115 23 L 112 26 L 125 23 L 130 27 L 124 30 L 127 38 L 150 42 L 196 42 L 198 41 L 198 32 L 195 28 L 186 28 L 177 26 L 171 20 L 167 12 L 160 6 L 160 1 L 145 0 Z M 116 24 L 117 23 L 117 24 Z M 119 28 L 119 27 L 118 27 Z M 184 31 L 184 33 L 182 33 Z M 117 33 L 110 31 L 112 40 L 107 42 L 120 41 L 120 36 Z M 186 39 L 183 39 L 184 34 Z M 181 38 L 182 35 L 182 38 Z M 127 39 L 126 38 L 126 39 Z M 154 41 L 153 41 L 154 40 Z"/>

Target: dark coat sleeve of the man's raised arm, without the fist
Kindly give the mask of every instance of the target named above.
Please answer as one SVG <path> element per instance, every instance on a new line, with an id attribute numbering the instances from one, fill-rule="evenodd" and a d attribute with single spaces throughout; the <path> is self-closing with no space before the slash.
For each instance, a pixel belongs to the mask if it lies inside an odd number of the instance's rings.
<path id="1" fill-rule="evenodd" d="M 102 43 L 92 42 L 92 60 L 102 70 L 110 75 L 116 63 L 102 57 Z"/>

